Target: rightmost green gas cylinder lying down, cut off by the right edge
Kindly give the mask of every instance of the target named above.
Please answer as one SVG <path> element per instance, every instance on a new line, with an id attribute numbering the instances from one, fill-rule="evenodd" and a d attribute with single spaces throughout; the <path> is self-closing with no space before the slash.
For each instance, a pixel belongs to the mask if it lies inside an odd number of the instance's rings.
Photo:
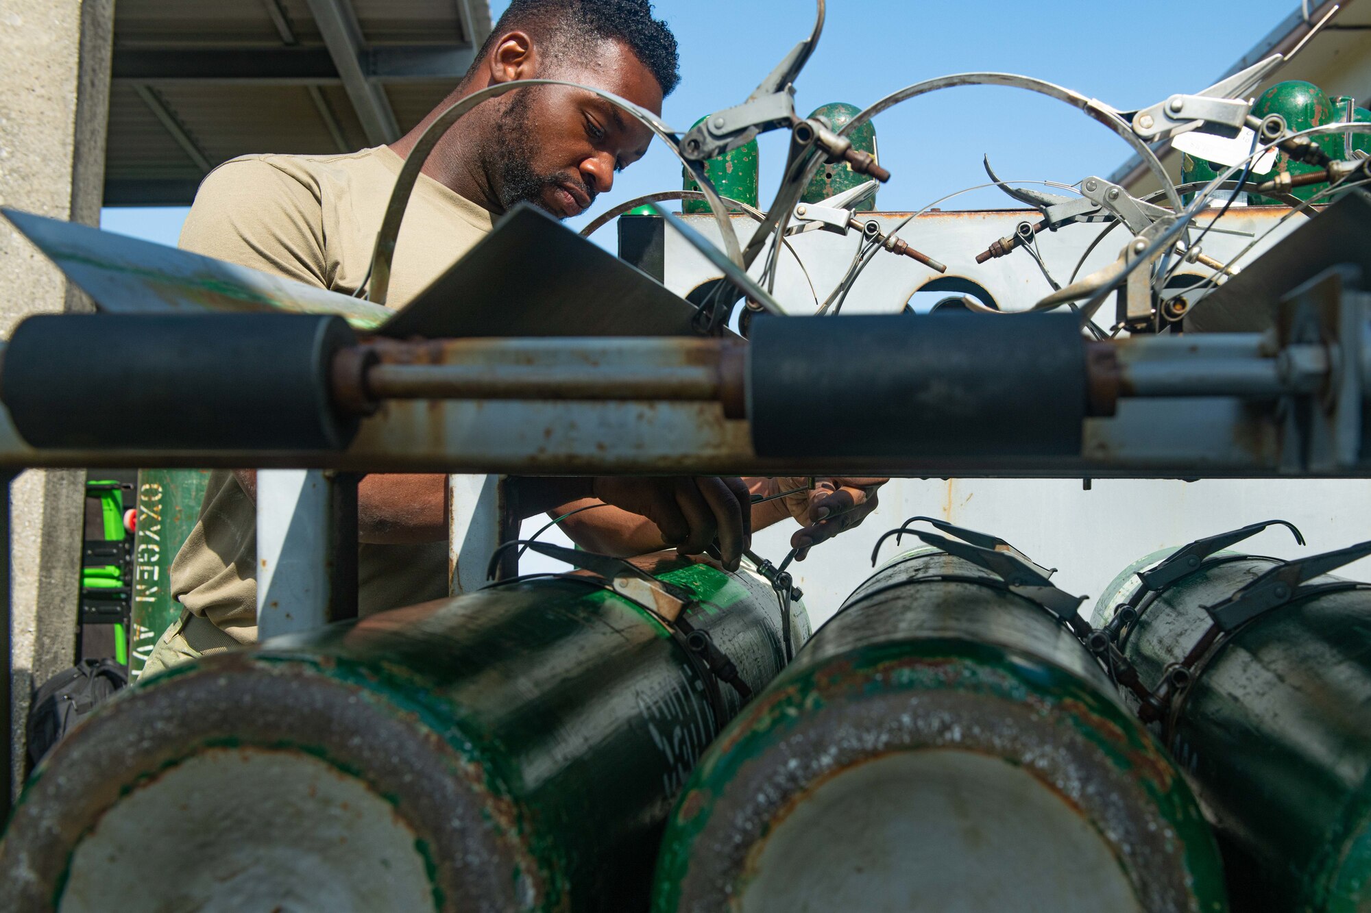
<path id="1" fill-rule="evenodd" d="M 1097 607 L 1100 625 L 1138 613 L 1119 648 L 1167 695 L 1152 716 L 1215 824 L 1235 908 L 1371 909 L 1371 585 L 1326 573 L 1366 554 L 1216 551 L 1157 589 L 1126 574 Z"/>

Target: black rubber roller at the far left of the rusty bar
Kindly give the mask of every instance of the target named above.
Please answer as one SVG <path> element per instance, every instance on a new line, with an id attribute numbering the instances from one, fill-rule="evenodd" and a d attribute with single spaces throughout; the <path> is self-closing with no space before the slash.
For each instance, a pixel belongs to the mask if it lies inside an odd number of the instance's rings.
<path id="1" fill-rule="evenodd" d="M 0 384 L 34 447 L 336 450 L 358 419 L 333 409 L 329 367 L 355 341 L 326 315 L 40 315 Z"/>

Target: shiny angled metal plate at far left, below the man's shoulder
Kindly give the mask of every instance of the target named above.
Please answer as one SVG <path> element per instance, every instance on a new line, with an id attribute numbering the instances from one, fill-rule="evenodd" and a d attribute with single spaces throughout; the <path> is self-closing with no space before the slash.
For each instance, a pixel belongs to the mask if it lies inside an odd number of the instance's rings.
<path id="1" fill-rule="evenodd" d="M 67 278 L 111 314 L 337 314 L 369 330 L 389 308 L 174 247 L 0 208 Z"/>

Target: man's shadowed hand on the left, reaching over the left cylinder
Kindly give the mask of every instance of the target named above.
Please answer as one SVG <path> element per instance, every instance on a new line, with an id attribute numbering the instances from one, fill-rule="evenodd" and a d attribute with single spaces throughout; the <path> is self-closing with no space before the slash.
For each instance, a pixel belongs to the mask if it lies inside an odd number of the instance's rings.
<path id="1" fill-rule="evenodd" d="M 738 570 L 751 547 L 751 495 L 742 478 L 606 476 L 592 489 L 594 498 L 653 521 L 683 555 L 703 552 L 717 537 L 724 568 Z"/>

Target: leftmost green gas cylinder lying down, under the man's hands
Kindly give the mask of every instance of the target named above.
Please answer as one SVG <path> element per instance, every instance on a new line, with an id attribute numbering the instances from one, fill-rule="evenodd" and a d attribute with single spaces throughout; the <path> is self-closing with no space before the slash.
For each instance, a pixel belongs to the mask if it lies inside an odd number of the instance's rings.
<path id="1" fill-rule="evenodd" d="M 683 617 L 751 690 L 779 672 L 771 584 L 638 563 L 698 600 Z M 206 657 L 125 692 L 36 772 L 0 843 L 5 909 L 646 909 L 670 803 L 713 714 L 742 705 L 703 670 L 596 577 Z"/>

